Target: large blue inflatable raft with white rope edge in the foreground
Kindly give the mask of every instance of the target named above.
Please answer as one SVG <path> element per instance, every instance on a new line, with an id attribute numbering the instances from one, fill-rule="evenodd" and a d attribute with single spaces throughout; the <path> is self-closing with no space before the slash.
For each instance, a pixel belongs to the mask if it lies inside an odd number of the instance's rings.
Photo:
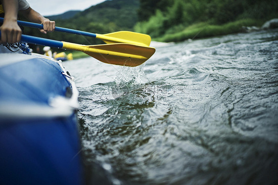
<path id="1" fill-rule="evenodd" d="M 77 108 L 61 61 L 0 53 L 0 184 L 84 184 Z"/>

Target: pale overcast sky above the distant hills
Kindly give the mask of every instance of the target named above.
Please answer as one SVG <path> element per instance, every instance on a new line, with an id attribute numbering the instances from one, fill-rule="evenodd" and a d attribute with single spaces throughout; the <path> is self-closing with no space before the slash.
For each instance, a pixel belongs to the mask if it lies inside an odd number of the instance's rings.
<path id="1" fill-rule="evenodd" d="M 69 10 L 85 10 L 105 0 L 27 0 L 30 6 L 46 15 L 57 15 Z"/>

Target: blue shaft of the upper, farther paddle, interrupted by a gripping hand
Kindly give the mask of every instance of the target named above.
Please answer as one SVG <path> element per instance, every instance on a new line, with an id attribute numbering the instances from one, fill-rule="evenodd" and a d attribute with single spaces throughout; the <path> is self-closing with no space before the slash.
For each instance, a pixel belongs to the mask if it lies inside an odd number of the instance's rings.
<path id="1" fill-rule="evenodd" d="M 0 22 L 3 22 L 3 21 L 4 21 L 4 18 L 0 17 Z M 31 28 L 44 29 L 44 25 L 33 23 L 33 22 L 17 21 L 17 24 L 19 26 L 27 26 L 27 27 L 31 27 Z M 94 37 L 94 38 L 96 37 L 96 34 L 93 34 L 90 32 L 84 32 L 84 31 L 73 30 L 73 29 L 68 29 L 68 28 L 61 28 L 61 27 L 57 27 L 57 26 L 55 27 L 55 31 L 83 35 L 83 36 Z"/>

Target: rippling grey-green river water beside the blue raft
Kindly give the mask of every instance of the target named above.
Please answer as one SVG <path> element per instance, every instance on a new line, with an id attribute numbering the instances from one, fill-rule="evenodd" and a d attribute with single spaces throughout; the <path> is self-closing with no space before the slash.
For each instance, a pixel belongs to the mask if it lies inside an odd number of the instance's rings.
<path id="1" fill-rule="evenodd" d="M 277 184 L 278 30 L 152 45 L 135 68 L 64 62 L 88 184 Z"/>

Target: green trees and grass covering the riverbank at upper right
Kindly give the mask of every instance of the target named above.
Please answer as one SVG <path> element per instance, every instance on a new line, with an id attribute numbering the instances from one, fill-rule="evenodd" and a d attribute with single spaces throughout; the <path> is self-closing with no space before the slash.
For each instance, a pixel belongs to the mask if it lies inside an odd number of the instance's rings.
<path id="1" fill-rule="evenodd" d="M 153 7 L 150 9 L 149 7 Z M 226 35 L 278 17 L 275 0 L 140 0 L 135 31 L 161 42 Z"/>

